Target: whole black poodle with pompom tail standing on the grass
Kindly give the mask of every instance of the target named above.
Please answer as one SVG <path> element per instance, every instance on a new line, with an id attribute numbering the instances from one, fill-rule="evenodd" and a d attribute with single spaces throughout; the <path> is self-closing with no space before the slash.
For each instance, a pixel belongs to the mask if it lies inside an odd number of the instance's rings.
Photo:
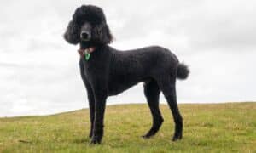
<path id="1" fill-rule="evenodd" d="M 113 36 L 102 8 L 93 5 L 82 5 L 75 10 L 64 38 L 80 45 L 79 66 L 90 105 L 92 144 L 101 143 L 108 96 L 120 94 L 138 82 L 144 82 L 144 94 L 153 116 L 153 125 L 143 138 L 157 133 L 164 121 L 159 108 L 162 91 L 175 122 L 172 140 L 182 139 L 183 118 L 177 108 L 175 82 L 176 78 L 186 79 L 189 69 L 170 50 L 151 46 L 119 51 L 108 46 Z"/>

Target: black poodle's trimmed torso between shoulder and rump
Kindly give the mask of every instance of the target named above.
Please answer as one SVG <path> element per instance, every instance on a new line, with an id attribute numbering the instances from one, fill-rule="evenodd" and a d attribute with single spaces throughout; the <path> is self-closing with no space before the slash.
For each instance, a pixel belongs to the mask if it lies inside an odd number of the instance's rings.
<path id="1" fill-rule="evenodd" d="M 176 74 L 177 57 L 166 48 L 150 46 L 126 51 L 109 50 L 112 58 L 109 63 L 109 95 L 119 94 L 138 82 Z"/>

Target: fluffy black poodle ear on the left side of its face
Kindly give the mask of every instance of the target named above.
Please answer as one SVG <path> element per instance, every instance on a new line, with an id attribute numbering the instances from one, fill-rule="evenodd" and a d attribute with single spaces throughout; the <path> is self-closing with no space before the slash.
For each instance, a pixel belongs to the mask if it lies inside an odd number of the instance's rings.
<path id="1" fill-rule="evenodd" d="M 67 30 L 63 35 L 64 39 L 71 44 L 79 43 L 79 25 L 71 20 L 67 25 Z"/>

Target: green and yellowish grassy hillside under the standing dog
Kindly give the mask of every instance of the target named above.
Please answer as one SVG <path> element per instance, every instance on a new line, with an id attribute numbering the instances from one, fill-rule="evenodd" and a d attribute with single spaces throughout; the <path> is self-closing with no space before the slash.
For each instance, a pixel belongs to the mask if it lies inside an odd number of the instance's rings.
<path id="1" fill-rule="evenodd" d="M 88 110 L 51 116 L 0 118 L 0 152 L 256 152 L 256 103 L 183 104 L 183 139 L 172 142 L 173 122 L 160 105 L 165 122 L 152 139 L 147 105 L 111 105 L 101 145 L 91 145 Z"/>

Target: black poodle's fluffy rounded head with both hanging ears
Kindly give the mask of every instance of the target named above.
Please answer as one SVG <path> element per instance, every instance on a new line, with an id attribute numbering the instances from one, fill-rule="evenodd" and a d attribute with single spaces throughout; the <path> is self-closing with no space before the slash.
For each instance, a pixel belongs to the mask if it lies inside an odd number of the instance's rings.
<path id="1" fill-rule="evenodd" d="M 71 44 L 90 47 L 112 42 L 113 37 L 108 28 L 102 8 L 93 5 L 82 5 L 73 14 L 68 23 L 64 39 Z"/>

